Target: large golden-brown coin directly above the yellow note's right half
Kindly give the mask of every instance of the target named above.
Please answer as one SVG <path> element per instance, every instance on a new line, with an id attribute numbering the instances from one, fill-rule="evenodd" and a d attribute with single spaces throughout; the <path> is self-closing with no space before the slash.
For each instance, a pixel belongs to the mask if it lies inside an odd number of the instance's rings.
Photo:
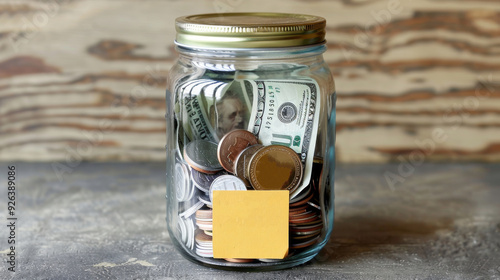
<path id="1" fill-rule="evenodd" d="M 295 190 L 303 174 L 299 156 L 292 149 L 270 145 L 250 159 L 249 181 L 256 190 Z"/>

